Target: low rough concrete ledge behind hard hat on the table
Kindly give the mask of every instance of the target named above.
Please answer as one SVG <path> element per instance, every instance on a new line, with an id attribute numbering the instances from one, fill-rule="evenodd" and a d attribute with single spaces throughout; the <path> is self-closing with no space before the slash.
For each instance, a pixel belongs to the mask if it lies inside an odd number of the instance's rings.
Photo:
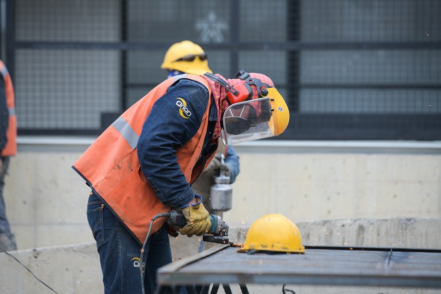
<path id="1" fill-rule="evenodd" d="M 303 245 L 441 249 L 441 218 L 393 217 L 298 222 Z M 230 241 L 243 245 L 247 227 L 230 229 Z"/>

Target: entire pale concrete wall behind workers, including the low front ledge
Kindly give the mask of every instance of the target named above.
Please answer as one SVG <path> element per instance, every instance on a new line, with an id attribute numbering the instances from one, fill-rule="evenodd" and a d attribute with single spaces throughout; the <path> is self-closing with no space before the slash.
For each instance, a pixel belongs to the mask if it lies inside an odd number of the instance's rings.
<path id="1" fill-rule="evenodd" d="M 103 292 L 85 213 L 90 188 L 71 169 L 92 141 L 19 138 L 5 200 L 20 250 L 9 252 L 12 256 L 0 253 L 0 292 L 53 293 L 36 277 L 58 293 Z M 255 219 L 276 212 L 297 224 L 304 245 L 441 248 L 441 142 L 264 141 L 235 148 L 241 173 L 233 184 L 233 208 L 223 214 L 235 243 L 243 243 Z M 170 242 L 174 260 L 196 254 L 201 244 L 199 237 L 185 236 L 170 237 Z M 211 246 L 206 243 L 204 249 Z M 240 292 L 235 286 L 233 293 Z M 439 293 L 412 288 L 287 288 L 297 294 Z M 248 289 L 282 292 L 281 285 Z"/>

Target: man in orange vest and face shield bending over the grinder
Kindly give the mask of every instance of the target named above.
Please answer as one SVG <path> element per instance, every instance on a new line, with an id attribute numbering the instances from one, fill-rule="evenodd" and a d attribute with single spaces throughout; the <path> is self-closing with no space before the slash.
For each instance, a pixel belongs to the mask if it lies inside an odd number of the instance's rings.
<path id="1" fill-rule="evenodd" d="M 218 145 L 279 135 L 288 121 L 273 81 L 242 70 L 228 80 L 211 73 L 167 79 L 113 122 L 73 164 L 92 188 L 87 220 L 105 293 L 142 293 L 140 269 L 145 293 L 153 293 L 157 269 L 172 260 L 169 227 L 156 216 L 181 209 L 187 225 L 177 230 L 206 234 L 209 212 L 191 184 Z"/>

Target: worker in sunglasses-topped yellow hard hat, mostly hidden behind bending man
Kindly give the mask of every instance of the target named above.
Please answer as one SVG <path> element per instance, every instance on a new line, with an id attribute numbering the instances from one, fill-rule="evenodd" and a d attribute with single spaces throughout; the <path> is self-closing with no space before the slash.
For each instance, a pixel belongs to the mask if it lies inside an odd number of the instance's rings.
<path id="1" fill-rule="evenodd" d="M 191 73 L 192 75 L 204 75 L 206 72 L 213 73 L 208 66 L 208 56 L 204 49 L 189 40 L 171 45 L 165 53 L 161 68 L 167 70 L 167 78 L 179 76 L 183 73 Z M 225 156 L 225 166 L 221 165 L 221 154 Z M 207 210 L 215 214 L 222 214 L 222 212 L 213 210 L 210 201 L 210 188 L 214 184 L 214 178 L 219 176 L 221 168 L 225 169 L 225 175 L 230 177 L 230 184 L 234 183 L 240 172 L 240 164 L 239 156 L 233 146 L 220 144 L 207 169 L 192 184 L 193 191 L 204 198 L 204 205 Z"/>

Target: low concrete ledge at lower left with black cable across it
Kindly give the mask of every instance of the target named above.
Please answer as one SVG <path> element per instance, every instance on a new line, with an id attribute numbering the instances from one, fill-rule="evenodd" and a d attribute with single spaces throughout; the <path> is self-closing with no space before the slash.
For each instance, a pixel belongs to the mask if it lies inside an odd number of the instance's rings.
<path id="1" fill-rule="evenodd" d="M 59 294 L 104 292 L 95 242 L 0 253 L 0 292 L 54 293 L 31 272 Z"/>

